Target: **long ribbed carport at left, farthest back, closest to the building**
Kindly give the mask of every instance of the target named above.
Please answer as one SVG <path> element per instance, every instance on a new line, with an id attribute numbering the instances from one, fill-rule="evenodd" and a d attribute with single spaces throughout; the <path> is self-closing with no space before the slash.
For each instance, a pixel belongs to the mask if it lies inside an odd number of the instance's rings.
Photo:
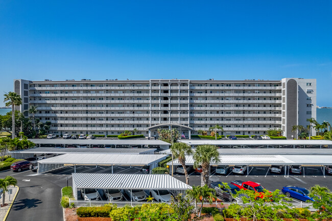
<path id="1" fill-rule="evenodd" d="M 162 140 L 147 140 L 147 139 L 123 139 L 123 140 L 108 140 L 108 139 L 30 139 L 38 147 L 48 146 L 55 147 L 55 145 L 86 145 L 90 147 L 93 144 L 96 145 L 108 145 L 113 148 L 119 148 L 121 146 L 138 146 L 139 148 L 158 146 L 160 149 L 166 150 L 170 148 L 170 143 Z"/>

